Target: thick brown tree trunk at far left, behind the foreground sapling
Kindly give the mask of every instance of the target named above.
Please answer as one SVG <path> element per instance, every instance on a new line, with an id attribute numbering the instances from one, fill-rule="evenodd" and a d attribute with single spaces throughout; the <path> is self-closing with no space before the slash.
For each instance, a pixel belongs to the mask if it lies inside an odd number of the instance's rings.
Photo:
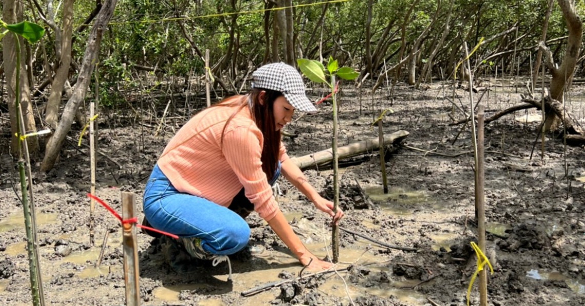
<path id="1" fill-rule="evenodd" d="M 5 0 L 2 4 L 2 20 L 8 24 L 17 23 L 22 20 L 22 6 L 20 1 Z M 10 116 L 11 131 L 11 154 L 18 155 L 18 138 L 15 134 L 18 132 L 16 126 L 16 45 L 14 34 L 6 34 L 2 40 L 2 59 L 4 60 L 4 75 L 6 78 L 6 92 L 8 102 L 8 113 Z M 18 37 L 20 46 L 25 46 L 25 41 Z M 23 111 L 25 133 L 36 131 L 35 117 L 33 116 L 33 107 L 30 103 L 30 87 L 26 75 L 26 56 L 25 48 L 20 48 L 20 105 Z M 39 138 L 26 137 L 29 152 L 37 154 L 39 152 Z"/>

